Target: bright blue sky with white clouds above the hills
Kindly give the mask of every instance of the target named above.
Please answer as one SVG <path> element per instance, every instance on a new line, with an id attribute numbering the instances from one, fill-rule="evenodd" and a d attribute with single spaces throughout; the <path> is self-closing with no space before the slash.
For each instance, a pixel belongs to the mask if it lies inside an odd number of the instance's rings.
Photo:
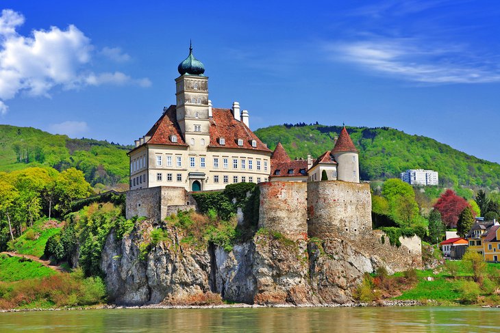
<path id="1" fill-rule="evenodd" d="M 0 123 L 131 144 L 195 56 L 252 129 L 390 126 L 500 162 L 497 1 L 14 1 Z M 425 165 L 422 165 L 425 167 Z"/>

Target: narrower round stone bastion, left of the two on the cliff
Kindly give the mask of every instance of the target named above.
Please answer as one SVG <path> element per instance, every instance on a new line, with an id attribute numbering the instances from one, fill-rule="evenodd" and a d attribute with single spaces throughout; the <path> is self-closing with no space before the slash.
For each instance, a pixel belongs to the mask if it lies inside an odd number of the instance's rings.
<path id="1" fill-rule="evenodd" d="M 260 183 L 259 228 L 281 232 L 297 240 L 308 235 L 306 183 Z"/>

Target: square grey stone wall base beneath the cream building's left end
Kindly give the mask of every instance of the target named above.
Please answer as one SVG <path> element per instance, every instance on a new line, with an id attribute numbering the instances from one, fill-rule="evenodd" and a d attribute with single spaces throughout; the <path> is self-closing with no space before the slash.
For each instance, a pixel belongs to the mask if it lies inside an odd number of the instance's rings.
<path id="1" fill-rule="evenodd" d="M 168 206 L 186 204 L 186 190 L 183 187 L 158 186 L 127 191 L 125 215 L 147 217 L 160 221 L 168 216 Z"/>

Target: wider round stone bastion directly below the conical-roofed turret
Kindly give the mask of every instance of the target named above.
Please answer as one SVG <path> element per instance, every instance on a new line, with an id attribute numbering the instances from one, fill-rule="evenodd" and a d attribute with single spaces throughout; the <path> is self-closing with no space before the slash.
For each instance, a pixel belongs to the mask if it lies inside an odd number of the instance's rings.
<path id="1" fill-rule="evenodd" d="M 371 231 L 368 184 L 344 181 L 308 183 L 308 235 L 327 239 L 358 237 Z"/>

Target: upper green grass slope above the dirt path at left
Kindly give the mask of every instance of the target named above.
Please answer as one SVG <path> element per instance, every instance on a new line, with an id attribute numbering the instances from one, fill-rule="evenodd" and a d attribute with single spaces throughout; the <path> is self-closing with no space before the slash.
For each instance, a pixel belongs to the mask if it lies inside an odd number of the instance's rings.
<path id="1" fill-rule="evenodd" d="M 10 250 L 40 258 L 45 250 L 47 239 L 61 232 L 61 228 L 43 228 L 46 222 L 46 219 L 41 219 L 31 228 L 27 228 L 21 237 L 10 243 Z"/>

